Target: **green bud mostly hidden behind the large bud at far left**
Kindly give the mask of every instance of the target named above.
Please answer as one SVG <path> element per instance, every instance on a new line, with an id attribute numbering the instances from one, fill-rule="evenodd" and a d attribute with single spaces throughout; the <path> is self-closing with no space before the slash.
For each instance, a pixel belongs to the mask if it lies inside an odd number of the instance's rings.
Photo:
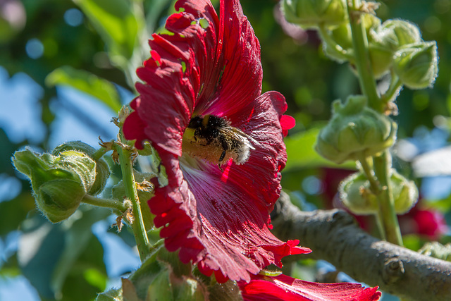
<path id="1" fill-rule="evenodd" d="M 89 195 L 98 195 L 100 192 L 102 192 L 105 188 L 106 181 L 110 177 L 110 168 L 106 161 L 102 158 L 97 158 L 94 154 L 97 152 L 97 149 L 94 149 L 94 147 L 87 145 L 85 142 L 81 141 L 70 141 L 63 143 L 62 145 L 59 145 L 56 147 L 53 151 L 53 154 L 55 156 L 58 156 L 61 154 L 61 152 L 68 151 L 68 150 L 75 150 L 78 152 L 82 152 L 89 156 L 91 159 L 96 161 L 96 180 L 94 184 L 91 186 L 91 188 L 88 191 Z"/>

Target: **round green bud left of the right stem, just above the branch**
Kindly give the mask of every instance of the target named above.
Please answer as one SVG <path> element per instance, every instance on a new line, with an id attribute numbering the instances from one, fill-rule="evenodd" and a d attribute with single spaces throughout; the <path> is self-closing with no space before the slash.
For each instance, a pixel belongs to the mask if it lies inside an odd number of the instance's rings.
<path id="1" fill-rule="evenodd" d="M 369 190 L 369 180 L 363 173 L 353 173 L 342 180 L 338 192 L 341 202 L 353 214 L 368 215 L 378 212 L 378 199 Z"/>

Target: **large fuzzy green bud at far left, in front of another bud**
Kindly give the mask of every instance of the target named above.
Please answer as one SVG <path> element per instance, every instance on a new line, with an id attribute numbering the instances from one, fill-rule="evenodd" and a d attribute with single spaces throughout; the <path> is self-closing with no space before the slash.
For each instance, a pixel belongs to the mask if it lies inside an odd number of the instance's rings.
<path id="1" fill-rule="evenodd" d="M 75 212 L 96 178 L 96 162 L 77 151 L 54 156 L 25 149 L 14 154 L 13 164 L 30 178 L 38 209 L 53 223 Z"/>

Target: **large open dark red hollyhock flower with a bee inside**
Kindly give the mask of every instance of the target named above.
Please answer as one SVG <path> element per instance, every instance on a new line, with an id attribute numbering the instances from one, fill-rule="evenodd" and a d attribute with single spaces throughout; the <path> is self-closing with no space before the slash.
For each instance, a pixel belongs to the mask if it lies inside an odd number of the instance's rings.
<path id="1" fill-rule="evenodd" d="M 166 248 L 220 282 L 250 281 L 286 255 L 310 252 L 268 229 L 294 119 L 283 116 L 281 94 L 261 95 L 259 41 L 238 0 L 220 1 L 219 18 L 207 0 L 175 8 L 171 34 L 149 41 L 123 132 L 138 148 L 149 140 L 168 176 L 149 200 Z"/>

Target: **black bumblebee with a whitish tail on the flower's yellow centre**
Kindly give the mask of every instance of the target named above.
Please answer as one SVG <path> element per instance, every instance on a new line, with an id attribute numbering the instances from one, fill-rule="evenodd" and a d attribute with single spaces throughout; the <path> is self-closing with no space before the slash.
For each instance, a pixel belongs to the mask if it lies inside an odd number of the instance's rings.
<path id="1" fill-rule="evenodd" d="M 215 115 L 194 116 L 187 128 L 194 130 L 187 152 L 220 167 L 230 158 L 235 164 L 244 164 L 249 159 L 250 149 L 255 149 L 251 141 L 258 144 L 225 118 Z"/>

